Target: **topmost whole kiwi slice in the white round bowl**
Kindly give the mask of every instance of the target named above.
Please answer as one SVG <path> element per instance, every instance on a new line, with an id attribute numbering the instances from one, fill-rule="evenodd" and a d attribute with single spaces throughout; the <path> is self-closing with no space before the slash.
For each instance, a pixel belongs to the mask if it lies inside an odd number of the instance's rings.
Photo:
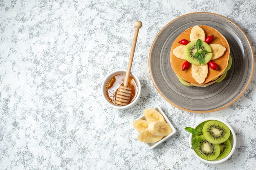
<path id="1" fill-rule="evenodd" d="M 203 135 L 212 144 L 221 144 L 229 138 L 230 129 L 220 121 L 211 120 L 204 124 Z"/>

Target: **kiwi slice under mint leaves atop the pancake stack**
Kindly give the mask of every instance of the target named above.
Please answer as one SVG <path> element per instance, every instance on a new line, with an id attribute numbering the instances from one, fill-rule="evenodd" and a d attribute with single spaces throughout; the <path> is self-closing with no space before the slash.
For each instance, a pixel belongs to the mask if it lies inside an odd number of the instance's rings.
<path id="1" fill-rule="evenodd" d="M 196 41 L 191 41 L 189 44 L 185 46 L 185 58 L 188 62 L 191 64 L 199 65 L 200 62 L 198 61 L 198 58 L 195 57 L 195 53 L 198 51 L 196 49 Z M 199 51 L 208 51 L 209 53 L 203 54 L 204 57 L 204 64 L 207 64 L 212 57 L 211 53 L 211 47 L 204 41 L 202 41 L 201 48 Z"/>

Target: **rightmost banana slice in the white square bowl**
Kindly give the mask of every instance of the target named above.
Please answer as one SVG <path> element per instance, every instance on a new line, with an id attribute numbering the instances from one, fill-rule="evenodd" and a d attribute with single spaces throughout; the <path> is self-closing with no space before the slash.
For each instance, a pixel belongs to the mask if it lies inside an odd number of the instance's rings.
<path id="1" fill-rule="evenodd" d="M 148 130 L 153 135 L 169 135 L 173 130 L 171 126 L 162 121 L 153 121 L 148 124 Z"/>

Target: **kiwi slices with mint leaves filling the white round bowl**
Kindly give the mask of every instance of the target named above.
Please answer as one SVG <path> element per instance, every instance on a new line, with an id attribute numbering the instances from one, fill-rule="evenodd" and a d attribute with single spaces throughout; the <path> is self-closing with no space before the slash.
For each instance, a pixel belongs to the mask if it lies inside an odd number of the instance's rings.
<path id="1" fill-rule="evenodd" d="M 213 119 L 201 121 L 194 128 L 186 127 L 191 133 L 190 145 L 193 153 L 206 163 L 222 163 L 234 152 L 233 134 L 228 125 Z M 205 160 L 205 161 L 204 161 Z"/>

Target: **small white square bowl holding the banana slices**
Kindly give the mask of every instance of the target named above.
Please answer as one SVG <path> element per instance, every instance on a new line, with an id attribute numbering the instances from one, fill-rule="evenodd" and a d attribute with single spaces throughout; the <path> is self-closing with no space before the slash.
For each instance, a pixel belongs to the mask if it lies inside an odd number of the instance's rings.
<path id="1" fill-rule="evenodd" d="M 158 145 L 162 144 L 164 141 L 166 141 L 168 138 L 170 138 L 171 136 L 173 136 L 175 133 L 176 133 L 176 130 L 175 128 L 173 127 L 173 124 L 171 124 L 171 122 L 169 121 L 168 117 L 164 114 L 163 110 L 159 107 L 159 106 L 155 106 L 153 109 L 157 110 L 161 115 L 163 115 L 165 121 L 167 124 L 169 124 L 171 126 L 171 129 L 173 130 L 168 136 L 165 136 L 163 137 L 163 139 L 157 141 L 157 142 L 154 142 L 154 143 L 145 143 L 146 146 L 149 148 L 149 149 L 153 149 L 155 147 L 157 147 Z M 146 120 L 145 116 L 142 115 L 141 117 L 139 117 L 139 119 L 142 119 L 142 120 Z M 138 132 L 136 130 L 136 132 Z M 139 134 L 139 132 L 138 132 Z"/>

